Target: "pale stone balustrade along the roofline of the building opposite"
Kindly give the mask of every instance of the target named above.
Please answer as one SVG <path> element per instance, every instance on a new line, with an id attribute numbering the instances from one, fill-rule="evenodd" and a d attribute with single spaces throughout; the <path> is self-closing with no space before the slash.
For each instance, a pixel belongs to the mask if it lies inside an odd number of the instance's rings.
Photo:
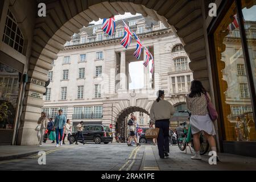
<path id="1" fill-rule="evenodd" d="M 133 29 L 132 29 L 133 30 Z M 133 30 L 134 32 L 136 32 L 136 34 L 138 36 L 142 36 L 142 35 L 146 35 L 148 33 L 156 33 L 159 31 L 166 31 L 169 30 L 169 28 L 157 28 L 156 30 L 152 30 L 152 28 L 147 28 L 146 30 L 143 30 L 141 32 L 138 32 L 136 30 Z M 114 36 L 100 36 L 97 37 L 96 35 L 93 36 L 89 36 L 86 40 L 81 40 L 81 39 L 72 39 L 71 42 L 67 42 L 64 46 L 65 47 L 71 47 L 71 46 L 82 46 L 85 44 L 91 44 L 91 43 L 100 43 L 100 42 L 106 42 L 106 41 L 113 41 L 113 40 L 118 40 L 118 39 L 122 39 L 123 38 L 123 34 L 120 35 L 114 35 Z"/>

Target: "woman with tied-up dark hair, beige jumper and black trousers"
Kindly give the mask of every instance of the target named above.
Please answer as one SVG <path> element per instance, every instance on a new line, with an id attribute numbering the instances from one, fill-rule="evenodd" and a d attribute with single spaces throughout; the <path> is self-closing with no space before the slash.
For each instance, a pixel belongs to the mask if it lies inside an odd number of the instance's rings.
<path id="1" fill-rule="evenodd" d="M 164 156 L 168 157 L 169 149 L 169 126 L 170 119 L 175 113 L 174 106 L 170 102 L 164 100 L 164 91 L 159 90 L 157 93 L 158 98 L 152 104 L 150 110 L 151 123 L 155 123 L 155 127 L 159 128 L 158 134 L 158 152 L 161 159 L 164 159 Z"/>

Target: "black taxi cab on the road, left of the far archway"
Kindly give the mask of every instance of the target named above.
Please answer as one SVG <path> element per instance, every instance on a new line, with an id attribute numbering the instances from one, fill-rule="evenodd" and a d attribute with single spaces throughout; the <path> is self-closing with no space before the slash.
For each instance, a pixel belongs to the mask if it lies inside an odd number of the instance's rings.
<path id="1" fill-rule="evenodd" d="M 85 142 L 94 142 L 96 144 L 105 143 L 108 144 L 113 141 L 113 134 L 108 126 L 104 125 L 84 125 L 82 135 Z M 76 142 L 77 132 L 73 132 L 71 135 L 71 142 Z M 82 139 L 79 138 L 78 142 L 82 143 Z"/>

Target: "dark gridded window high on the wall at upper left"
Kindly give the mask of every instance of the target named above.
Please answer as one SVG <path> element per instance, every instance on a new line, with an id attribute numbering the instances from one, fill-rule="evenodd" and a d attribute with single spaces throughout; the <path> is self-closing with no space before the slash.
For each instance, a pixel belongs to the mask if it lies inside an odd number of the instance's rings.
<path id="1" fill-rule="evenodd" d="M 24 38 L 10 10 L 8 10 L 2 41 L 23 53 Z"/>

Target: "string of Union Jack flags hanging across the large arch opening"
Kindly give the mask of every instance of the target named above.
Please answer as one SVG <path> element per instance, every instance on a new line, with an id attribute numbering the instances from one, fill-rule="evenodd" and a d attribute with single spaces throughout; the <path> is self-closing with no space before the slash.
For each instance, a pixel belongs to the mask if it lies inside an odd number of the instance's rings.
<path id="1" fill-rule="evenodd" d="M 154 73 L 154 57 L 152 56 L 152 54 L 150 53 L 150 51 L 148 51 L 148 49 L 143 46 L 141 40 L 138 38 L 138 36 L 135 34 L 135 32 L 130 30 L 130 27 L 127 26 L 127 24 L 123 21 L 123 29 L 124 29 L 124 35 L 123 38 L 120 42 L 120 44 L 125 47 L 126 49 L 130 46 L 131 44 L 131 40 L 133 39 L 133 36 L 135 37 L 135 40 L 137 41 L 137 47 L 136 50 L 134 52 L 134 57 L 136 57 L 137 59 L 139 59 L 141 57 L 141 53 L 142 50 L 144 49 L 144 51 L 146 52 L 146 60 L 144 60 L 143 65 L 145 67 L 148 66 L 148 64 L 150 63 L 150 60 L 152 60 L 152 68 L 151 68 L 151 73 Z M 103 23 L 102 23 L 102 28 L 101 28 L 106 34 L 108 34 L 109 36 L 113 36 L 114 32 L 115 32 L 115 18 L 109 18 L 103 19 Z"/>

